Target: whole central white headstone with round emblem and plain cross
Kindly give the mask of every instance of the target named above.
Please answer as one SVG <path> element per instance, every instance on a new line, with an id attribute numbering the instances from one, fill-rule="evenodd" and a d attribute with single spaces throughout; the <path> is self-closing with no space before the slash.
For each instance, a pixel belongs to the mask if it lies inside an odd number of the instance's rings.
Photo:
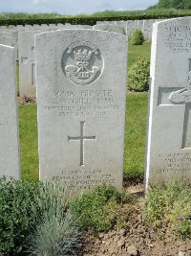
<path id="1" fill-rule="evenodd" d="M 40 179 L 70 190 L 122 186 L 127 38 L 35 36 Z"/>

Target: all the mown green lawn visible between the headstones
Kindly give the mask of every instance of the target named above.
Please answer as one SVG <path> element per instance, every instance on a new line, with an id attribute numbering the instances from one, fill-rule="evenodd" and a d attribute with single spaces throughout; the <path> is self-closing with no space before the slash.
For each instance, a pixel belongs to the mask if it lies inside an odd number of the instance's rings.
<path id="1" fill-rule="evenodd" d="M 145 42 L 138 46 L 130 45 L 128 65 L 143 55 L 150 56 L 150 43 Z M 146 112 L 147 93 L 130 93 L 127 95 L 124 175 L 128 177 L 141 176 L 144 173 Z M 22 177 L 28 180 L 37 180 L 36 105 L 20 105 L 19 122 Z"/>

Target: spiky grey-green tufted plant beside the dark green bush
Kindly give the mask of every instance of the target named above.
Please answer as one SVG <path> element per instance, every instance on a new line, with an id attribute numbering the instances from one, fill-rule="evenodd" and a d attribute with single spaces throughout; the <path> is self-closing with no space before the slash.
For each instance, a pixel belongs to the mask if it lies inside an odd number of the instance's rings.
<path id="1" fill-rule="evenodd" d="M 81 233 L 73 215 L 67 211 L 68 201 L 63 187 L 46 184 L 41 189 L 38 204 L 41 207 L 40 224 L 32 229 L 28 247 L 34 256 L 75 255 L 81 245 Z"/>

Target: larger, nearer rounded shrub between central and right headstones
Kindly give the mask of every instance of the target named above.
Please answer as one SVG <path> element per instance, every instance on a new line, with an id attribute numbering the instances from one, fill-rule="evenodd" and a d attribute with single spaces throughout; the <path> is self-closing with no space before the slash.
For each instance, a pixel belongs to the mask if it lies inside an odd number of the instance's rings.
<path id="1" fill-rule="evenodd" d="M 137 92 L 148 91 L 150 77 L 149 58 L 139 58 L 128 72 L 128 88 Z"/>

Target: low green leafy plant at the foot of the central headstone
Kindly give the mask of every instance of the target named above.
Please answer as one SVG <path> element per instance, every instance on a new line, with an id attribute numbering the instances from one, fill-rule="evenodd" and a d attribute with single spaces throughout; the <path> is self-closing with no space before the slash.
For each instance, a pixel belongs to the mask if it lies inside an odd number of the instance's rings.
<path id="1" fill-rule="evenodd" d="M 119 193 L 113 187 L 99 186 L 76 198 L 70 209 L 80 229 L 91 230 L 97 234 L 117 224 L 120 202 L 132 200 L 131 195 Z"/>

